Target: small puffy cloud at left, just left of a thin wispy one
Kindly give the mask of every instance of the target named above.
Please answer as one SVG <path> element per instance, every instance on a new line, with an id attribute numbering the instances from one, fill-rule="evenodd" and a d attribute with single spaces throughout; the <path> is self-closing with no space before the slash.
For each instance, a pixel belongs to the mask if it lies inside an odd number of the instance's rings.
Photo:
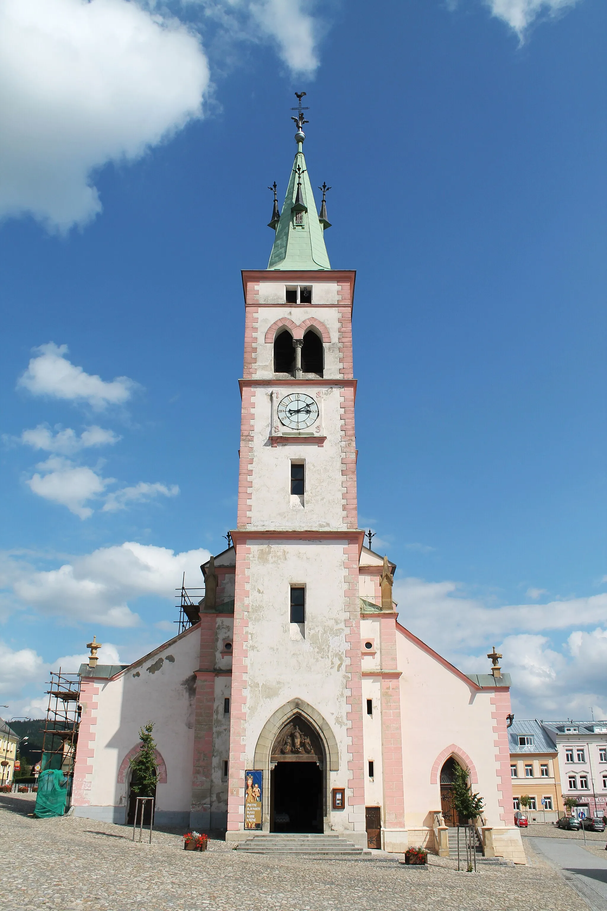
<path id="1" fill-rule="evenodd" d="M 101 477 L 92 468 L 76 466 L 61 455 L 51 455 L 36 468 L 38 471 L 26 482 L 30 490 L 83 519 L 93 515 L 86 501 L 100 496 L 108 484 L 114 483 L 114 478 Z"/>

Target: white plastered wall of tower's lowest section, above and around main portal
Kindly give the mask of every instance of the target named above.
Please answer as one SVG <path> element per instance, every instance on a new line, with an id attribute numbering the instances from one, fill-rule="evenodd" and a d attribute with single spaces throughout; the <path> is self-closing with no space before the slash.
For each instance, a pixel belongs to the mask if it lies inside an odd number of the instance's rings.
<path id="1" fill-rule="evenodd" d="M 250 547 L 248 609 L 248 706 L 246 762 L 253 761 L 259 734 L 275 711 L 292 699 L 319 711 L 339 749 L 339 771 L 330 787 L 346 787 L 348 707 L 343 550 L 338 541 L 247 541 Z M 304 637 L 292 638 L 289 586 L 306 587 Z M 350 831 L 349 808 L 332 812 L 335 831 Z"/>

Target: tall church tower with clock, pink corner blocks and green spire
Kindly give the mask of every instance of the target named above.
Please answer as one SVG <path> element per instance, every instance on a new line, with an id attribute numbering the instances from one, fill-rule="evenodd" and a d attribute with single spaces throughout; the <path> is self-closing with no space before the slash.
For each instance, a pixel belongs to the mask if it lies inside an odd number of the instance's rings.
<path id="1" fill-rule="evenodd" d="M 297 152 L 280 213 L 273 188 L 268 269 L 242 273 L 228 838 L 238 839 L 245 827 L 290 827 L 344 831 L 367 844 L 355 272 L 329 263 L 330 188 L 321 188 L 319 216 L 303 153 L 301 97 L 293 119 Z M 245 823 L 253 779 L 261 806 Z"/>

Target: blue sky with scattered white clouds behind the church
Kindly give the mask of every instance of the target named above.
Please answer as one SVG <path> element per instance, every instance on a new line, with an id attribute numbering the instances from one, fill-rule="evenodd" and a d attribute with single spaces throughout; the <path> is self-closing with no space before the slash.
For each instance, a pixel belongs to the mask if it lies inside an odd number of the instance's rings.
<path id="1" fill-rule="evenodd" d="M 4 0 L 0 697 L 169 638 L 236 517 L 289 107 L 358 271 L 359 521 L 519 717 L 607 715 L 599 0 Z M 8 715 L 5 711 L 5 715 Z"/>

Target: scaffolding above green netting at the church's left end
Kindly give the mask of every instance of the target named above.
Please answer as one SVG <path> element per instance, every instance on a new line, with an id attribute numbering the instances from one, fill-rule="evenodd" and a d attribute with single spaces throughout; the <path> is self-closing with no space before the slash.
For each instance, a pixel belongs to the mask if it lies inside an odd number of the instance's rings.
<path id="1" fill-rule="evenodd" d="M 80 677 L 63 673 L 61 668 L 51 671 L 48 681 L 48 707 L 42 742 L 42 771 L 58 769 L 70 779 L 68 798 L 72 792 L 76 742 L 80 723 Z"/>

